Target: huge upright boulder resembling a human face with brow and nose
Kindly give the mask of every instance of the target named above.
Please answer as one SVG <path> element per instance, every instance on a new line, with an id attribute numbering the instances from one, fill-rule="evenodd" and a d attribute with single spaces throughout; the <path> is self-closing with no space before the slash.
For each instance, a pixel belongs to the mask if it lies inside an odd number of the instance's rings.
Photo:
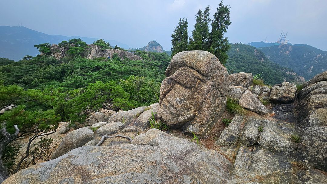
<path id="1" fill-rule="evenodd" d="M 171 59 L 165 75 L 159 118 L 184 133 L 206 136 L 226 108 L 226 68 L 207 51 L 183 51 Z"/>

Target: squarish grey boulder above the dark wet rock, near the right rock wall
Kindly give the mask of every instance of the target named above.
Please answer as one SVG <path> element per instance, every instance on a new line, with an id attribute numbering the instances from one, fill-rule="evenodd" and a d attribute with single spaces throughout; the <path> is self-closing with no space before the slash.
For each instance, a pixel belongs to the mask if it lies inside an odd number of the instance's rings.
<path id="1" fill-rule="evenodd" d="M 296 86 L 289 82 L 274 85 L 271 88 L 269 100 L 274 103 L 292 103 L 295 100 Z"/>

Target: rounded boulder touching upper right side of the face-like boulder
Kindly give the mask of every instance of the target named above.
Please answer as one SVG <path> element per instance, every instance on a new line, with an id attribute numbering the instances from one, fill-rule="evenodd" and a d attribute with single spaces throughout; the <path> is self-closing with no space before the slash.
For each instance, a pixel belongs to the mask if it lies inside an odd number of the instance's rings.
<path id="1" fill-rule="evenodd" d="M 251 73 L 235 73 L 229 75 L 229 85 L 230 86 L 242 86 L 248 88 L 253 81 L 253 76 Z"/>

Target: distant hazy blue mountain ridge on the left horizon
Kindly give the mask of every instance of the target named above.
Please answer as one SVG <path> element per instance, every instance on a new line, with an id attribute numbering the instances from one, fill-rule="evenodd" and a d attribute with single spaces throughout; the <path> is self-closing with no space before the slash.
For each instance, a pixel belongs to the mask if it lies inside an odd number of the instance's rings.
<path id="1" fill-rule="evenodd" d="M 0 26 L 0 58 L 9 58 L 15 61 L 22 59 L 25 55 L 35 56 L 39 54 L 38 49 L 34 47 L 35 44 L 40 43 L 59 43 L 63 40 L 70 40 L 73 38 L 80 38 L 87 44 L 91 44 L 98 40 L 98 38 L 88 38 L 80 36 L 62 36 L 62 35 L 48 35 L 41 33 L 24 26 Z M 115 40 L 105 40 L 112 46 L 128 49 L 129 46 L 125 43 L 117 42 Z"/>

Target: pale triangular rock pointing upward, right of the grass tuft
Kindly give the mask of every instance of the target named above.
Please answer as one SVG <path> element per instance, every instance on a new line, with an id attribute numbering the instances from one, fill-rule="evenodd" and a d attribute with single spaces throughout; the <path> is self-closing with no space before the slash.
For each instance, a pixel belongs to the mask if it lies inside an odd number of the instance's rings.
<path id="1" fill-rule="evenodd" d="M 259 114 L 267 114 L 267 108 L 256 98 L 249 90 L 245 91 L 241 96 L 238 104 L 245 109 L 249 109 Z"/>

